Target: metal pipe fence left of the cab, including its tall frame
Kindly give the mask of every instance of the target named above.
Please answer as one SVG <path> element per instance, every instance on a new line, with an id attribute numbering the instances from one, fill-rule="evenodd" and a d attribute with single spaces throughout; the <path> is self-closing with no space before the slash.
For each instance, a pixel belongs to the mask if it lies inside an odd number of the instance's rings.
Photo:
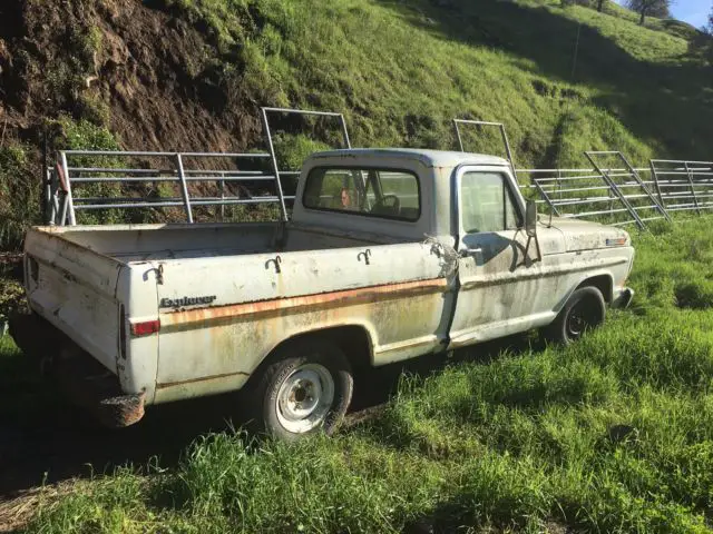
<path id="1" fill-rule="evenodd" d="M 57 165 L 46 169 L 45 177 L 45 219 L 50 225 L 77 225 L 77 212 L 107 209 L 136 208 L 183 208 L 185 220 L 195 222 L 194 207 L 219 207 L 221 219 L 225 207 L 231 205 L 277 204 L 280 218 L 289 219 L 287 201 L 294 196 L 284 194 L 282 178 L 299 176 L 299 170 L 280 169 L 273 142 L 273 128 L 270 117 L 275 113 L 333 117 L 339 120 L 343 145 L 351 148 L 346 121 L 342 113 L 326 111 L 309 111 L 287 108 L 261 108 L 263 130 L 267 144 L 267 152 L 166 152 L 166 151 L 111 151 L 111 150 L 60 150 L 57 152 Z M 106 161 L 110 164 L 106 164 Z M 159 165 L 147 167 L 144 162 L 152 160 Z M 211 169 L 191 166 L 188 161 L 224 161 L 231 165 L 227 169 Z M 266 162 L 272 171 L 260 167 Z M 101 165 L 104 162 L 104 165 Z M 265 166 L 263 166 L 265 167 Z M 203 182 L 217 190 L 213 196 L 192 195 L 191 184 Z M 226 195 L 226 186 L 231 184 L 266 182 L 274 186 L 274 195 Z M 172 196 L 119 196 L 77 195 L 78 186 L 126 184 L 144 184 L 157 186 L 165 184 L 173 187 Z M 114 191 L 116 192 L 116 191 Z"/>

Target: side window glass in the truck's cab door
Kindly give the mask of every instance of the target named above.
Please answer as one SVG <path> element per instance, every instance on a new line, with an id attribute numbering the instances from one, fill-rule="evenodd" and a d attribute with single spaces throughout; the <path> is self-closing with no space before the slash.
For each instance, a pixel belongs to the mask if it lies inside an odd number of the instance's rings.
<path id="1" fill-rule="evenodd" d="M 460 179 L 460 217 L 467 234 L 512 230 L 519 217 L 505 175 L 466 172 Z"/>

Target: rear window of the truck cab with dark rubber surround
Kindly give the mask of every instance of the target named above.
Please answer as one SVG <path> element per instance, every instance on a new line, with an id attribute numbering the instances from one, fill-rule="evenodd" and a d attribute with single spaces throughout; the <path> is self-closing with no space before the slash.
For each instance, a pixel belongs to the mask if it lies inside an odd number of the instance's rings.
<path id="1" fill-rule="evenodd" d="M 315 167 L 307 175 L 302 204 L 309 209 L 416 221 L 421 216 L 418 177 L 408 170 Z"/>

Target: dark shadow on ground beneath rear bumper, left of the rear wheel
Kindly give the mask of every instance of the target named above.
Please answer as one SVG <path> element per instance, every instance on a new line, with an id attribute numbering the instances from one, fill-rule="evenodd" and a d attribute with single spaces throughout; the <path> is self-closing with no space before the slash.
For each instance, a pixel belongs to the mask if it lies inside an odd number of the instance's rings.
<path id="1" fill-rule="evenodd" d="M 128 428 L 100 428 L 51 383 L 33 378 L 22 355 L 1 359 L 0 500 L 43 481 L 88 477 L 155 457 L 170 466 L 197 435 L 227 426 L 221 414 L 229 399 L 214 397 L 149 409 Z"/>

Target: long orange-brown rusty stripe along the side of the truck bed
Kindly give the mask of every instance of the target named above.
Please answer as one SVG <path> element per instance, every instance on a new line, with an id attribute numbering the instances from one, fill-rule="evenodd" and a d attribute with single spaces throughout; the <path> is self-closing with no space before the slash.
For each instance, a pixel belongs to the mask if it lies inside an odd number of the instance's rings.
<path id="1" fill-rule="evenodd" d="M 162 314 L 162 330 L 166 332 L 170 330 L 172 327 L 179 328 L 180 326 L 204 323 L 212 319 L 242 316 L 251 316 L 251 318 L 284 316 L 299 312 L 310 312 L 314 309 L 326 310 L 342 306 L 391 300 L 404 296 L 427 295 L 441 291 L 447 285 L 448 281 L 446 278 L 432 278 L 428 280 L 384 284 L 359 289 L 305 295 L 301 297 L 276 298 L 256 303 L 173 312 Z"/>

